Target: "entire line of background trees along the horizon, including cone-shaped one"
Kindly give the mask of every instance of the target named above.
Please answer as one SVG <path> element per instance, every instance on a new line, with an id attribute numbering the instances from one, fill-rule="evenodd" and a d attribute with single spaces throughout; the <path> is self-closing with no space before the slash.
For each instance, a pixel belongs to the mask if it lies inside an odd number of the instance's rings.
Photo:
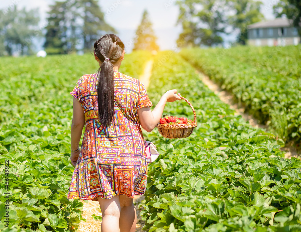
<path id="1" fill-rule="evenodd" d="M 247 26 L 264 19 L 262 2 L 255 0 L 170 0 L 179 7 L 177 24 L 182 33 L 177 44 L 185 46 L 214 46 L 221 44 L 225 35 L 236 32 L 237 43 L 246 44 Z M 169 1 L 169 2 L 170 2 Z M 299 28 L 301 3 L 284 0 L 273 6 L 276 17 L 285 15 Z M 65 54 L 89 50 L 104 33 L 116 33 L 104 19 L 97 0 L 55 1 L 47 12 L 47 22 L 39 28 L 38 9 L 18 10 L 16 6 L 0 10 L 0 56 L 32 54 L 33 41 L 45 37 L 48 54 Z M 157 37 L 147 11 L 134 38 L 134 50 L 158 50 Z"/>

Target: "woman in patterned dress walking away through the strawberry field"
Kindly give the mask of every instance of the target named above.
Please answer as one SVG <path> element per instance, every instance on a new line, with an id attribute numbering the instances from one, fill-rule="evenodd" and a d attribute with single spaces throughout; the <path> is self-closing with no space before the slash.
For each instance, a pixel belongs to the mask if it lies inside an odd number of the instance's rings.
<path id="1" fill-rule="evenodd" d="M 94 48 L 98 73 L 82 76 L 71 92 L 70 159 L 75 169 L 67 198 L 98 200 L 102 232 L 135 231 L 133 198 L 145 193 L 147 179 L 140 124 L 151 132 L 166 102 L 181 98 L 177 90 L 169 90 L 151 111 L 143 84 L 118 72 L 125 53 L 123 42 L 107 34 L 95 42 Z"/>

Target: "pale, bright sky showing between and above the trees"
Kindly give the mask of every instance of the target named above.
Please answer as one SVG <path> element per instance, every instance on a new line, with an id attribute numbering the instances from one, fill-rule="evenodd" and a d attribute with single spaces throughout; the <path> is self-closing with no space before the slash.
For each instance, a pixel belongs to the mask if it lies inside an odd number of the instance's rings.
<path id="1" fill-rule="evenodd" d="M 273 19 L 272 6 L 279 0 L 262 0 L 264 3 L 261 11 L 266 19 Z M 181 26 L 177 25 L 178 7 L 175 6 L 176 0 L 98 0 L 102 11 L 105 13 L 105 20 L 117 30 L 117 36 L 128 44 L 129 51 L 133 47 L 132 39 L 135 30 L 141 22 L 144 9 L 147 9 L 153 29 L 158 38 L 157 43 L 161 50 L 172 49 L 176 45 L 176 40 L 181 33 Z M 0 0 L 0 9 L 8 9 L 17 5 L 18 8 L 26 9 L 39 8 L 41 17 L 40 25 L 46 23 L 49 5 L 54 0 Z M 227 36 L 225 40 L 231 42 L 235 35 Z M 42 49 L 43 39 L 36 42 L 37 49 Z"/>

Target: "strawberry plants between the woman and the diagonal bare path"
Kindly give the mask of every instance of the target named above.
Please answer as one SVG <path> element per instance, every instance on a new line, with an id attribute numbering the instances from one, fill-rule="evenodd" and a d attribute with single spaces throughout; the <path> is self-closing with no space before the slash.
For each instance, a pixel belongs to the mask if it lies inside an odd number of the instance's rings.
<path id="1" fill-rule="evenodd" d="M 283 158 L 270 134 L 235 116 L 179 55 L 161 54 L 151 79 L 150 98 L 157 102 L 178 89 L 194 106 L 198 126 L 185 139 L 148 134 L 160 156 L 148 168 L 144 229 L 300 230 L 301 161 Z M 192 118 L 183 101 L 168 103 L 165 111 Z"/>

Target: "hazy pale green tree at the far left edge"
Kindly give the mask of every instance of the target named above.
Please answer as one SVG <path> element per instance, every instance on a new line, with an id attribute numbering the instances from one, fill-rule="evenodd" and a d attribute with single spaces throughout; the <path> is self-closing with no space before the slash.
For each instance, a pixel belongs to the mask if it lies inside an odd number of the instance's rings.
<path id="1" fill-rule="evenodd" d="M 0 11 L 0 55 L 31 54 L 32 40 L 39 35 L 35 30 L 39 23 L 38 9 L 26 11 L 9 8 Z"/>

